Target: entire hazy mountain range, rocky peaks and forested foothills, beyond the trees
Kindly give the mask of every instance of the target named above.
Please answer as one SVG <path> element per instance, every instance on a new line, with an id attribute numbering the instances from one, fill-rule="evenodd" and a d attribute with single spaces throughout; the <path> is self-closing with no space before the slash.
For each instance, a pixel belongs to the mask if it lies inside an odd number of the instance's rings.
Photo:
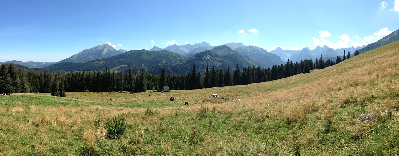
<path id="1" fill-rule="evenodd" d="M 323 55 L 324 59 L 342 57 L 344 51 L 346 54 L 351 51 L 354 54 L 356 49 L 361 53 L 392 43 L 399 40 L 399 30 L 392 32 L 384 38 L 362 47 L 347 47 L 332 49 L 327 46 L 310 49 L 308 47 L 302 50 L 284 50 L 280 47 L 268 52 L 263 48 L 256 46 L 245 46 L 243 43 L 225 43 L 220 46 L 211 46 L 207 42 L 196 43 L 194 45 L 170 45 L 166 48 L 152 47 L 147 50 L 131 50 L 129 53 L 124 49 L 114 49 L 108 44 L 98 45 L 85 49 L 62 61 L 52 62 L 21 62 L 8 61 L 2 63 L 16 63 L 27 67 L 51 69 L 54 71 L 79 71 L 79 70 L 98 70 L 106 67 L 113 70 L 125 71 L 128 68 L 154 68 L 150 72 L 158 72 L 159 68 L 167 65 L 172 73 L 184 73 L 191 69 L 182 69 L 197 65 L 199 68 L 209 64 L 220 69 L 234 67 L 239 64 L 240 67 L 248 65 L 259 65 L 261 67 L 271 67 L 280 65 L 288 59 L 291 61 L 300 61 L 304 59 L 317 59 Z M 126 53 L 126 54 L 125 54 Z M 124 55 L 122 55 L 124 54 Z M 198 54 L 198 55 L 197 55 Z M 150 60 L 150 59 L 158 59 Z M 201 62 L 202 61 L 202 62 Z M 190 65 L 191 64 L 191 65 Z"/>

